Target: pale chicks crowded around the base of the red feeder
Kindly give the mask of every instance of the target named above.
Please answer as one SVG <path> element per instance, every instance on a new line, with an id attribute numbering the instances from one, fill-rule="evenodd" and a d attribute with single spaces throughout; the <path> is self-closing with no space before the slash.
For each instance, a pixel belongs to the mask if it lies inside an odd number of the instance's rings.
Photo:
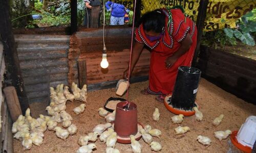
<path id="1" fill-rule="evenodd" d="M 78 144 L 81 146 L 76 151 L 77 153 L 90 153 L 93 149 L 96 148 L 94 143 L 89 142 L 96 142 L 99 140 L 106 144 L 106 153 L 118 153 L 120 152 L 117 148 L 115 148 L 117 142 L 117 133 L 114 131 L 114 124 L 111 122 L 115 121 L 115 111 L 109 113 L 103 108 L 98 109 L 99 115 L 105 118 L 105 124 L 98 124 L 94 127 L 91 133 L 88 133 L 86 136 L 80 136 L 78 140 Z M 162 149 L 162 146 L 159 142 L 153 141 L 153 136 L 160 138 L 161 131 L 158 129 L 152 129 L 150 125 L 146 125 L 138 131 L 142 135 L 142 139 L 151 146 L 151 149 L 154 151 L 159 151 Z M 131 138 L 131 147 L 133 152 L 140 153 L 141 152 L 141 145 L 135 139 L 134 135 L 130 135 Z"/>

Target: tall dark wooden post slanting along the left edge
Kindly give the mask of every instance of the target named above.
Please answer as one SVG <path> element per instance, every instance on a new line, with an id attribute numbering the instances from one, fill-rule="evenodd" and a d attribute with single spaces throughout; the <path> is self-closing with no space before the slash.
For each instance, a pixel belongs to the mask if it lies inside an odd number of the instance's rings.
<path id="1" fill-rule="evenodd" d="M 0 35 L 4 45 L 4 54 L 7 68 L 5 82 L 9 83 L 9 86 L 11 85 L 16 88 L 20 107 L 22 108 L 22 112 L 25 115 L 25 112 L 29 107 L 29 103 L 24 87 L 22 73 L 20 71 L 17 48 L 12 33 L 9 8 L 9 1 L 0 1 L 0 14 L 2 16 L 0 21 Z"/>

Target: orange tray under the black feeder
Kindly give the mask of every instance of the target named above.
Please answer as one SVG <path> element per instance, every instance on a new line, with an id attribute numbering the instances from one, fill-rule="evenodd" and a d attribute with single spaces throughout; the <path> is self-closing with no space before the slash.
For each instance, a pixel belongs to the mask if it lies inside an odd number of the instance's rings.
<path id="1" fill-rule="evenodd" d="M 179 115 L 179 114 L 183 114 L 184 116 L 192 116 L 195 114 L 195 111 L 182 111 L 179 109 L 174 108 L 172 105 L 169 105 L 167 100 L 172 97 L 172 95 L 167 95 L 164 98 L 164 106 L 166 107 L 167 110 L 169 110 L 170 112 Z M 198 104 L 196 103 L 197 107 L 199 108 Z"/>

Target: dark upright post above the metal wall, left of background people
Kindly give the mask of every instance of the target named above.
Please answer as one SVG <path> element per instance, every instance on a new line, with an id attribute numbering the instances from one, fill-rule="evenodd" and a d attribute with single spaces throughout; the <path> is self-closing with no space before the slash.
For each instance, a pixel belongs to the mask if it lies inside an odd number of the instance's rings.
<path id="1" fill-rule="evenodd" d="M 77 0 L 71 0 L 71 34 L 77 32 Z"/>

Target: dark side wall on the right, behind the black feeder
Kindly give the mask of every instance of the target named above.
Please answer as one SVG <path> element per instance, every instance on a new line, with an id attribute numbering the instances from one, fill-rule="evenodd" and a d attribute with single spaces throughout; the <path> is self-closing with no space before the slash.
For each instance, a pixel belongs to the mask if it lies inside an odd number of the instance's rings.
<path id="1" fill-rule="evenodd" d="M 202 77 L 256 104 L 256 61 L 201 46 L 198 64 Z"/>

